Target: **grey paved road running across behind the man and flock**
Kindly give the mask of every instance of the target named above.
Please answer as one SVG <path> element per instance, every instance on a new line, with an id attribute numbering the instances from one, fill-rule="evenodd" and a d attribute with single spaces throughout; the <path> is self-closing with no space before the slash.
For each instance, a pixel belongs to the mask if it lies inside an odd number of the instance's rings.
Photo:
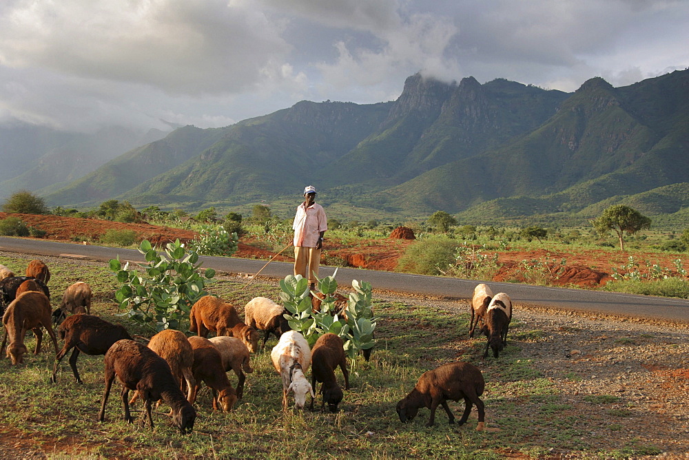
<path id="1" fill-rule="evenodd" d="M 72 258 L 88 258 L 107 261 L 119 255 L 120 260 L 143 261 L 141 254 L 133 249 L 116 249 L 100 246 L 83 246 L 61 242 L 24 240 L 21 238 L 0 237 L 0 251 L 52 255 Z M 227 273 L 258 272 L 266 261 L 239 258 L 202 256 L 205 268 Z M 321 267 L 320 275 L 333 274 L 333 267 Z M 292 273 L 292 265 L 285 262 L 271 262 L 261 272 L 269 278 L 285 278 Z M 408 275 L 361 269 L 338 269 L 337 280 L 341 285 L 351 285 L 351 280 L 364 280 L 373 284 L 374 289 L 384 289 L 400 293 L 420 293 L 442 295 L 451 298 L 471 298 L 475 280 L 440 278 L 436 276 Z M 535 304 L 553 309 L 568 311 L 587 311 L 610 315 L 641 317 L 652 320 L 681 322 L 689 324 L 689 300 L 562 289 L 526 284 L 491 282 L 493 292 L 504 291 L 516 304 Z"/>

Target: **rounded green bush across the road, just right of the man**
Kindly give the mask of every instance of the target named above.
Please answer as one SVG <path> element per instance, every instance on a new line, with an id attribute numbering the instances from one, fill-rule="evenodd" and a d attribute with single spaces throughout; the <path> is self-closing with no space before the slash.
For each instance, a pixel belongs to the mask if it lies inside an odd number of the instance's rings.
<path id="1" fill-rule="evenodd" d="M 440 275 L 455 264 L 455 253 L 459 247 L 456 241 L 448 238 L 432 238 L 411 244 L 404 251 L 397 265 L 397 271 L 419 273 L 421 275 Z"/>

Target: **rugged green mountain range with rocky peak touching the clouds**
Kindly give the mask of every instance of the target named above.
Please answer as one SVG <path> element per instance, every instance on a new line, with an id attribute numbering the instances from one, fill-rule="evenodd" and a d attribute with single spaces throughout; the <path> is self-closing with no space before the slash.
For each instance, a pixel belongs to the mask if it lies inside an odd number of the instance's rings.
<path id="1" fill-rule="evenodd" d="M 182 127 L 45 197 L 229 209 L 294 201 L 312 184 L 324 204 L 385 216 L 583 219 L 625 200 L 668 213 L 668 196 L 685 199 L 688 130 L 689 70 L 617 88 L 595 77 L 574 93 L 416 74 L 388 103 L 302 101 Z"/>

